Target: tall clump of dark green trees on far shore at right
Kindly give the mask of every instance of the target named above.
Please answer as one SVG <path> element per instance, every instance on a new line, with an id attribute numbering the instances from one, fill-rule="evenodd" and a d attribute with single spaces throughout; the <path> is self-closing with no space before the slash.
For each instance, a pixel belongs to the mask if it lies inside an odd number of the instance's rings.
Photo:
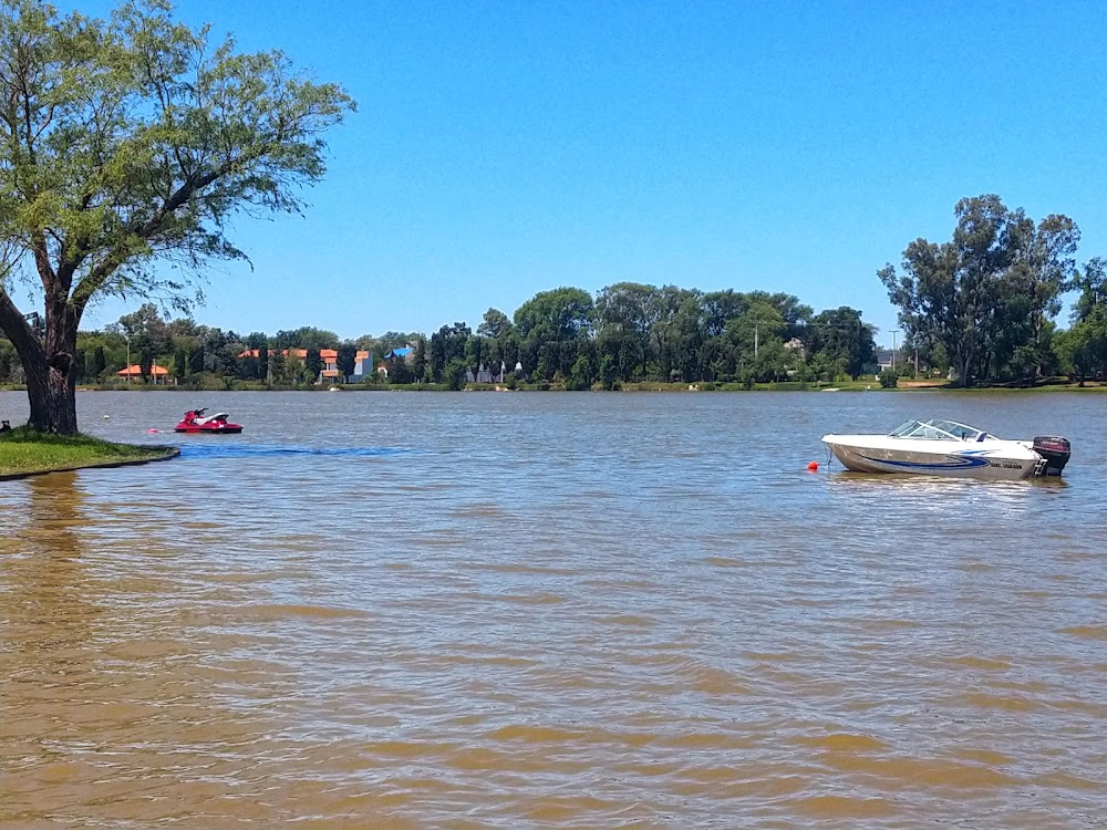
<path id="1" fill-rule="evenodd" d="M 899 308 L 906 349 L 949 366 L 962 385 L 1030 384 L 1058 371 L 1083 382 L 1107 372 L 1107 263 L 1077 267 L 1080 234 L 1064 215 L 1039 222 L 999 196 L 965 198 L 948 242 L 917 239 L 900 271 L 879 278 Z M 1073 326 L 1058 330 L 1065 292 L 1079 292 Z"/>

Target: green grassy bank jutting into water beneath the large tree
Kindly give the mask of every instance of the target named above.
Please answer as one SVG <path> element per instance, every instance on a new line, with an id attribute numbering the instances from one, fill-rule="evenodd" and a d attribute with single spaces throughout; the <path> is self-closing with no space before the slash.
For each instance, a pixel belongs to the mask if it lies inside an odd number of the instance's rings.
<path id="1" fill-rule="evenodd" d="M 0 479 L 156 461 L 176 454 L 172 447 L 112 444 L 87 435 L 46 435 L 18 427 L 0 434 Z"/>

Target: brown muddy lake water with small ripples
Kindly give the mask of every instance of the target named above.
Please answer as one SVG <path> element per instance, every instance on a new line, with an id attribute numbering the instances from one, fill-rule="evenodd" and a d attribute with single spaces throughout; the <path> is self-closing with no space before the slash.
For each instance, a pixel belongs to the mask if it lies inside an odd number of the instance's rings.
<path id="1" fill-rule="evenodd" d="M 0 827 L 1107 827 L 1103 395 L 79 405 L 246 432 L 0 484 Z M 805 469 L 935 416 L 1074 458 Z"/>

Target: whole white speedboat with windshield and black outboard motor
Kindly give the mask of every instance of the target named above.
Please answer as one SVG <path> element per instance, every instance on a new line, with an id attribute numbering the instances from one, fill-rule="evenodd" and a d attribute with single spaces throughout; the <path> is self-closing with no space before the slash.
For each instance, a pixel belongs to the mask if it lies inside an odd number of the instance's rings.
<path id="1" fill-rule="evenodd" d="M 1059 476 L 1072 455 L 1067 438 L 1005 440 L 954 421 L 909 421 L 889 435 L 824 435 L 823 443 L 856 473 L 1012 480 Z"/>

